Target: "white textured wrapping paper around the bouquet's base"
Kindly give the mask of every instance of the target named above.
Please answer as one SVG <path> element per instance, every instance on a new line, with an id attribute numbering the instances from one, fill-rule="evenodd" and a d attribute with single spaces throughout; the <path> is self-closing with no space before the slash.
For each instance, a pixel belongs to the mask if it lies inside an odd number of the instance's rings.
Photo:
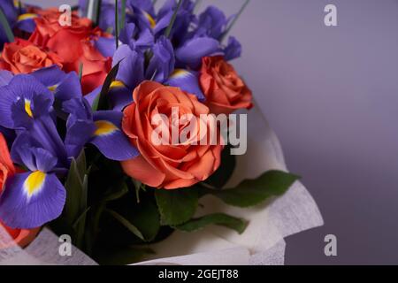
<path id="1" fill-rule="evenodd" d="M 248 152 L 237 157 L 228 186 L 272 169 L 287 171 L 278 138 L 256 107 L 249 111 L 248 126 Z M 204 198 L 201 204 L 198 215 L 224 212 L 245 218 L 249 220 L 247 230 L 239 235 L 224 227 L 211 226 L 196 233 L 176 232 L 152 245 L 156 255 L 140 264 L 280 265 L 284 264 L 285 237 L 323 225 L 317 204 L 301 182 L 278 199 L 252 209 L 233 208 L 212 196 Z M 11 239 L 0 227 L 0 245 L 7 241 Z M 74 248 L 72 256 L 60 256 L 59 245 L 57 236 L 43 229 L 27 249 L 0 250 L 0 264 L 96 264 Z"/>

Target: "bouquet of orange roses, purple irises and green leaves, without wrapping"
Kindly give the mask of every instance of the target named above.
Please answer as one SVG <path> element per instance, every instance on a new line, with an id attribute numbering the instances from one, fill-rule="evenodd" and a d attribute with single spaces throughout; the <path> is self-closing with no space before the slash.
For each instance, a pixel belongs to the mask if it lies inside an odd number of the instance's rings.
<path id="1" fill-rule="evenodd" d="M 132 264 L 176 231 L 245 232 L 247 219 L 198 214 L 203 198 L 249 209 L 298 180 L 272 170 L 226 186 L 256 106 L 230 62 L 249 1 L 229 18 L 198 2 L 0 3 L 1 249 L 46 227 L 99 264 Z"/>

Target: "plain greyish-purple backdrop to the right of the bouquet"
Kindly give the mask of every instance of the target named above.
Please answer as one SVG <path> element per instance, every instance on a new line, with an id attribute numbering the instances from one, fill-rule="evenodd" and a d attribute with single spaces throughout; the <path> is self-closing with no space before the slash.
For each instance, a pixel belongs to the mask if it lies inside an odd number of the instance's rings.
<path id="1" fill-rule="evenodd" d="M 242 2 L 203 6 L 232 14 Z M 326 4 L 338 27 L 325 27 Z M 233 34 L 234 65 L 325 218 L 287 239 L 286 263 L 398 264 L 398 0 L 252 0 Z"/>

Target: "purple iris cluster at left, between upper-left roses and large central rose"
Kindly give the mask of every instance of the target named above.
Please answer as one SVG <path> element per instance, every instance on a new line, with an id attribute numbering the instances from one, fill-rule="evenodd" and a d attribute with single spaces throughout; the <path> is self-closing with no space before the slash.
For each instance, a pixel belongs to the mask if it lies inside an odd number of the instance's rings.
<path id="1" fill-rule="evenodd" d="M 76 73 L 56 66 L 14 77 L 1 72 L 0 86 L 0 130 L 16 135 L 11 157 L 27 169 L 7 181 L 0 195 L 0 218 L 7 226 L 33 228 L 60 215 L 65 188 L 57 177 L 66 175 L 88 142 L 113 160 L 138 155 L 121 131 L 122 113 L 93 113 Z M 57 131 L 62 119 L 65 138 Z"/>

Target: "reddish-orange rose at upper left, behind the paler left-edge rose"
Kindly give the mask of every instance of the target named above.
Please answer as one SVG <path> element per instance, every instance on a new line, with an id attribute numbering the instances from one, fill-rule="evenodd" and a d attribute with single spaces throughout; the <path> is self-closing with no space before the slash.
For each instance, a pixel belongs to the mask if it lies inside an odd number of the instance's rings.
<path id="1" fill-rule="evenodd" d="M 34 19 L 36 29 L 29 41 L 61 57 L 65 72 L 79 73 L 82 63 L 83 94 L 88 94 L 102 85 L 106 75 L 111 71 L 111 57 L 103 57 L 91 41 L 96 40 L 98 36 L 111 35 L 103 33 L 99 28 L 92 29 L 91 20 L 79 18 L 76 13 L 73 13 L 71 26 L 64 27 L 58 23 L 61 13 L 57 9 L 37 13 L 41 17 Z"/>

